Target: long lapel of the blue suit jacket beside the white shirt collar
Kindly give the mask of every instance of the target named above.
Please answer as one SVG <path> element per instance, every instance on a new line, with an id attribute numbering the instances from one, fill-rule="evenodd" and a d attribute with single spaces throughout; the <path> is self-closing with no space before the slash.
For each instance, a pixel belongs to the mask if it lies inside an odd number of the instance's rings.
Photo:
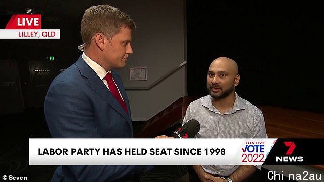
<path id="1" fill-rule="evenodd" d="M 87 85 L 101 98 L 103 98 L 115 111 L 117 111 L 127 121 L 128 124 L 131 124 L 129 115 L 126 114 L 125 110 L 120 105 L 118 100 L 112 95 L 112 93 L 108 90 L 102 80 L 100 80 L 96 72 L 92 70 L 92 68 L 81 58 L 81 56 L 76 62 L 76 65 L 79 68 L 81 75 L 87 77 Z M 120 88 L 121 87 L 119 87 L 119 89 Z M 127 97 L 123 95 L 123 98 Z"/>

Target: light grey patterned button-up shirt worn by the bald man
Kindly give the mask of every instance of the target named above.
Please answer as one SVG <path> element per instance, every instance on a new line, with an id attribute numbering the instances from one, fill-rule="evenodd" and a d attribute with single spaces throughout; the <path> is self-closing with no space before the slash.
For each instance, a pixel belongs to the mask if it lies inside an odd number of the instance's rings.
<path id="1" fill-rule="evenodd" d="M 233 108 L 221 114 L 207 95 L 190 103 L 183 124 L 195 119 L 200 130 L 195 138 L 268 138 L 262 112 L 235 93 Z M 202 165 L 211 174 L 230 176 L 239 165 Z M 256 165 L 261 169 L 261 165 Z"/>

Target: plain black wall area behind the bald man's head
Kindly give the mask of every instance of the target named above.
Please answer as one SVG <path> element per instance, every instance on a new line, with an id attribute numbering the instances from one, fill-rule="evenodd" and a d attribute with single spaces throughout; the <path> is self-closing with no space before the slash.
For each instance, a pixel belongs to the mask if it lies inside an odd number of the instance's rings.
<path id="1" fill-rule="evenodd" d="M 324 113 L 324 12 L 319 5 L 187 2 L 189 95 L 207 95 L 206 73 L 217 57 L 234 59 L 237 93 L 256 105 Z"/>

